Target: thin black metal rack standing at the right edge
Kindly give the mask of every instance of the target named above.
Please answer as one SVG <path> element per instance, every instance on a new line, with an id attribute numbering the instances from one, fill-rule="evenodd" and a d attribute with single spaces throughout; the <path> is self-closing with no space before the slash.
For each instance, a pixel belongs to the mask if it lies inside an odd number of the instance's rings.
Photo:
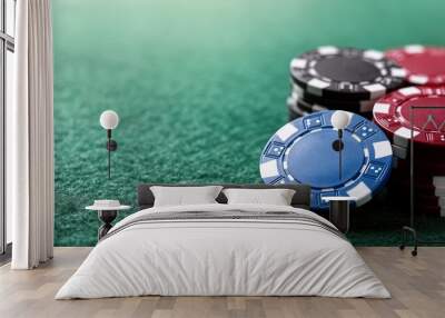
<path id="1" fill-rule="evenodd" d="M 407 235 L 412 235 L 414 241 L 414 248 L 412 250 L 412 256 L 417 256 L 417 247 L 422 244 L 429 245 L 443 245 L 443 241 L 425 242 L 421 241 L 417 236 L 417 230 L 414 225 L 414 113 L 416 109 L 444 109 L 445 106 L 412 106 L 409 108 L 409 121 L 411 121 L 411 139 L 409 139 L 409 226 L 404 226 L 402 228 L 402 244 L 399 248 L 403 250 L 406 246 Z M 426 125 L 427 122 L 425 122 Z"/>

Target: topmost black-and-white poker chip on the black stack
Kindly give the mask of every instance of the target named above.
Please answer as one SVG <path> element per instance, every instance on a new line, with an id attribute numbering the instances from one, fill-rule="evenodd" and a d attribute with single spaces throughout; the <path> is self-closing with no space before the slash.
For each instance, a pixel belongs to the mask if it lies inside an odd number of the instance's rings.
<path id="1" fill-rule="evenodd" d="M 290 61 L 293 81 L 308 93 L 373 100 L 405 83 L 406 70 L 376 50 L 319 47 Z"/>

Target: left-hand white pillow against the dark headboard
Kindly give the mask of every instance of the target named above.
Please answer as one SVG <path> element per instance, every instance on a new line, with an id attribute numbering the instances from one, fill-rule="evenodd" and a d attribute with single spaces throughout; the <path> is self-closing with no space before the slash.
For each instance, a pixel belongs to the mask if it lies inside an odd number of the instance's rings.
<path id="1" fill-rule="evenodd" d="M 155 207 L 217 203 L 215 199 L 221 189 L 220 186 L 150 187 L 155 196 Z"/>

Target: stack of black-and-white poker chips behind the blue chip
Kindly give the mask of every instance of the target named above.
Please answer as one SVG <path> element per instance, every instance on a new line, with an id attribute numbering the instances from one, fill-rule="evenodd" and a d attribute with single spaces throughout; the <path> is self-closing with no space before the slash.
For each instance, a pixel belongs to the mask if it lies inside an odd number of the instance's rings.
<path id="1" fill-rule="evenodd" d="M 405 69 L 380 51 L 320 47 L 290 61 L 289 120 L 336 109 L 372 118 L 376 99 L 405 79 Z"/>

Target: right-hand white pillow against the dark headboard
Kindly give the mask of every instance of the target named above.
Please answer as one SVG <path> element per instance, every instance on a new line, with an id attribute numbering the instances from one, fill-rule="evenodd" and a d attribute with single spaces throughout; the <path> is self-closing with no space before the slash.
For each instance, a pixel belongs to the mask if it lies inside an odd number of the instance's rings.
<path id="1" fill-rule="evenodd" d="M 295 190 L 291 189 L 224 189 L 228 205 L 290 206 Z"/>

